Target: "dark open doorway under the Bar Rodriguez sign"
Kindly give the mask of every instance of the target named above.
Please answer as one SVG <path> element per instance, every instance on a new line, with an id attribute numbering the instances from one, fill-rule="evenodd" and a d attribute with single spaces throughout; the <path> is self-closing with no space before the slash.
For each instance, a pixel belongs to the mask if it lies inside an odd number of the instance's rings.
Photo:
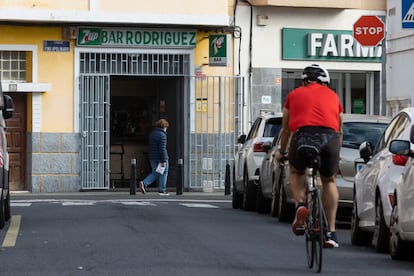
<path id="1" fill-rule="evenodd" d="M 132 159 L 137 161 L 139 179 L 150 173 L 148 135 L 160 118 L 170 123 L 167 187 L 175 187 L 176 165 L 184 140 L 180 131 L 184 119 L 183 81 L 182 77 L 111 76 L 110 178 L 113 187 L 129 186 Z"/>

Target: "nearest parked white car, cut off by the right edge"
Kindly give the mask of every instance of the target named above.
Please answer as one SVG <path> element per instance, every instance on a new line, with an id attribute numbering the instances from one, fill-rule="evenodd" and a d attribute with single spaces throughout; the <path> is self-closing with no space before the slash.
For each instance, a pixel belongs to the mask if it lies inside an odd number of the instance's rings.
<path id="1" fill-rule="evenodd" d="M 394 260 L 411 260 L 414 257 L 414 134 L 410 140 L 393 140 L 390 152 L 410 157 L 395 185 L 390 219 L 390 255 Z M 398 159 L 393 161 L 398 162 Z"/>

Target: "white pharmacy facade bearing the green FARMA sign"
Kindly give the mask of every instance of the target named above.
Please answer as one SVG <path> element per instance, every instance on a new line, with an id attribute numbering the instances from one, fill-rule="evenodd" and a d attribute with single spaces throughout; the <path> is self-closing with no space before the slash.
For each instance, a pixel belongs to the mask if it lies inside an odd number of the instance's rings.
<path id="1" fill-rule="evenodd" d="M 262 110 L 281 111 L 287 93 L 301 84 L 303 68 L 311 63 L 329 70 L 331 87 L 346 113 L 386 113 L 383 45 L 362 47 L 352 33 L 363 15 L 385 18 L 384 5 L 367 1 L 363 7 L 332 3 L 328 8 L 322 3 L 326 1 L 313 2 L 312 7 L 304 1 L 289 6 L 283 1 L 249 2 L 236 9 L 235 24 L 243 39 L 234 51 L 235 68 L 247 76 L 250 91 L 245 96 L 246 117 L 252 121 Z"/>

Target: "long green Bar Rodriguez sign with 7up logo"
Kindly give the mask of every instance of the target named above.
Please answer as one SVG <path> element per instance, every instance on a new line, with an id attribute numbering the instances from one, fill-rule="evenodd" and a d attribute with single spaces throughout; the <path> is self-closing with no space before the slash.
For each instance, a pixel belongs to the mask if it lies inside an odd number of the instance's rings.
<path id="1" fill-rule="evenodd" d="M 79 28 L 79 46 L 194 48 L 196 31 Z"/>

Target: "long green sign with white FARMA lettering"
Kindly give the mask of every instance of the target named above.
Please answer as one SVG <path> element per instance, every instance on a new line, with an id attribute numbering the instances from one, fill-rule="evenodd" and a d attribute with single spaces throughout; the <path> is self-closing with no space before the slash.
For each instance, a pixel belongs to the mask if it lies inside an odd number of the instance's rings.
<path id="1" fill-rule="evenodd" d="M 363 47 L 352 31 L 284 28 L 282 37 L 285 60 L 381 62 L 382 46 Z"/>

